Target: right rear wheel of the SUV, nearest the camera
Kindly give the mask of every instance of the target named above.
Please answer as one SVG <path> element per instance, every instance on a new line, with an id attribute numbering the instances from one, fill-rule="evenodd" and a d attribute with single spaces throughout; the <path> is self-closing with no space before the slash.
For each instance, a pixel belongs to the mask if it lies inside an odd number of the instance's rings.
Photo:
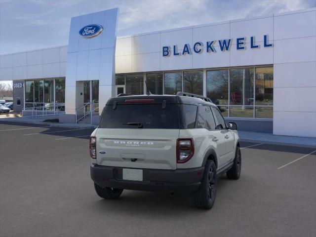
<path id="1" fill-rule="evenodd" d="M 203 209 L 211 209 L 215 202 L 216 189 L 216 165 L 213 160 L 207 160 L 201 185 L 192 194 L 196 206 Z"/>

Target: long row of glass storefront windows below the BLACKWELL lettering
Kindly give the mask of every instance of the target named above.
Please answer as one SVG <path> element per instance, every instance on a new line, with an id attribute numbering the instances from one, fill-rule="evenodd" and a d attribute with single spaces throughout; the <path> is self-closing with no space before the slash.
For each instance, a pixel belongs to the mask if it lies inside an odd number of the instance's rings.
<path id="1" fill-rule="evenodd" d="M 203 71 L 148 73 L 146 80 L 157 95 L 203 94 Z M 126 85 L 125 93 L 143 94 L 142 74 L 116 75 L 116 84 Z M 273 118 L 273 66 L 208 70 L 205 86 L 224 117 Z"/>

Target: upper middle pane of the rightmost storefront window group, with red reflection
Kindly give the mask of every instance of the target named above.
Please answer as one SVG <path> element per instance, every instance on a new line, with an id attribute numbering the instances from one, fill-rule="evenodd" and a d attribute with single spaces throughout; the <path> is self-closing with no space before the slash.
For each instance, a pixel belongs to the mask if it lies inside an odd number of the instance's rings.
<path id="1" fill-rule="evenodd" d="M 253 71 L 253 68 L 231 69 L 231 105 L 253 105 Z"/>

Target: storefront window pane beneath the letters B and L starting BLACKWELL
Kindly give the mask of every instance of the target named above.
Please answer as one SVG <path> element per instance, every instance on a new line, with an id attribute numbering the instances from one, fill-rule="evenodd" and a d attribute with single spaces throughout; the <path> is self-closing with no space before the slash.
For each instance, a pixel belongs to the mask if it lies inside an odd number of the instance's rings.
<path id="1" fill-rule="evenodd" d="M 182 91 L 182 72 L 164 74 L 164 94 L 175 95 Z"/>

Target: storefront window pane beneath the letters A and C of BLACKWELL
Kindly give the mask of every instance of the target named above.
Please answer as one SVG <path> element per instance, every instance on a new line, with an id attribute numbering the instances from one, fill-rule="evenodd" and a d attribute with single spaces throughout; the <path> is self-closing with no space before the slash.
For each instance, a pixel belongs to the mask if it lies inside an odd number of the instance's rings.
<path id="1" fill-rule="evenodd" d="M 183 72 L 184 91 L 203 95 L 203 72 Z"/>

